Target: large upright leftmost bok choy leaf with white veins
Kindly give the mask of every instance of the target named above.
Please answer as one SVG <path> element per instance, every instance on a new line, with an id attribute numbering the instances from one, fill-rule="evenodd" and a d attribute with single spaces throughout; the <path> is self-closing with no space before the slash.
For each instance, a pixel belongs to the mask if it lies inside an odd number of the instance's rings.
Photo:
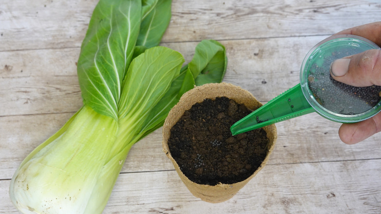
<path id="1" fill-rule="evenodd" d="M 115 120 L 121 83 L 139 34 L 141 10 L 141 0 L 101 0 L 94 9 L 78 59 L 85 104 Z"/>

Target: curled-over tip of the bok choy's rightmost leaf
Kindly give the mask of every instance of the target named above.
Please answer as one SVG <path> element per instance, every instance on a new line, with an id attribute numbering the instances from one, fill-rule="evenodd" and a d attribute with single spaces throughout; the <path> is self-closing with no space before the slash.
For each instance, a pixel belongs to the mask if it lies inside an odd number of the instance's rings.
<path id="1" fill-rule="evenodd" d="M 227 57 L 225 47 L 214 40 L 203 40 L 196 46 L 188 69 L 195 77 L 196 86 L 220 83 L 225 75 Z"/>

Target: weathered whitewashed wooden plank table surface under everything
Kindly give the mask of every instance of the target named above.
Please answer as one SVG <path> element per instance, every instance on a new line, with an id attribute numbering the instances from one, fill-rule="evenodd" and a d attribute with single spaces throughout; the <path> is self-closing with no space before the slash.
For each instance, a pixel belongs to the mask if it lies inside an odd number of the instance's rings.
<path id="1" fill-rule="evenodd" d="M 26 155 L 81 106 L 80 45 L 98 0 L 0 0 L 0 213 Z M 298 84 L 305 54 L 349 27 L 381 20 L 379 0 L 173 0 L 161 45 L 191 60 L 224 44 L 224 82 L 263 103 Z M 194 197 L 161 148 L 159 128 L 130 150 L 104 214 L 381 214 L 381 134 L 357 145 L 316 113 L 276 124 L 268 164 L 232 199 Z"/>

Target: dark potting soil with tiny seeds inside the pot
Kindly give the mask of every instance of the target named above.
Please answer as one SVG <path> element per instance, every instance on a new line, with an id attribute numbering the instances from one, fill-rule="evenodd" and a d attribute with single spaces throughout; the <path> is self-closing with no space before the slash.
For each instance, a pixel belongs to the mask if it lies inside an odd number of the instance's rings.
<path id="1" fill-rule="evenodd" d="M 262 128 L 232 136 L 230 127 L 252 111 L 226 97 L 206 99 L 185 111 L 170 129 L 169 151 L 198 184 L 233 184 L 250 177 L 268 152 Z"/>

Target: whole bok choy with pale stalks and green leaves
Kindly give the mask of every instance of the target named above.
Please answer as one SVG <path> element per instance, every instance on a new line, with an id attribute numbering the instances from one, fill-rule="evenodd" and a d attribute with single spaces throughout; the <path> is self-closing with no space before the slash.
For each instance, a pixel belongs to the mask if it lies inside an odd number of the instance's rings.
<path id="1" fill-rule="evenodd" d="M 163 125 L 194 85 L 221 82 L 223 45 L 205 40 L 191 62 L 157 46 L 170 0 L 100 0 L 78 60 L 84 105 L 33 150 L 10 185 L 25 214 L 100 214 L 134 143 Z"/>

